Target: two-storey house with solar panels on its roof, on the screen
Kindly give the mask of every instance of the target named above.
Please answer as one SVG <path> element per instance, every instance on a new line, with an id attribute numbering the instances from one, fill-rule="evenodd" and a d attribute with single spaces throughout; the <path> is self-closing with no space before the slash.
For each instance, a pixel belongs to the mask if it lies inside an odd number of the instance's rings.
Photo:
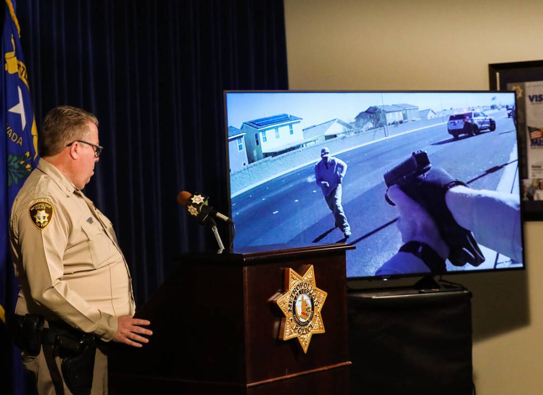
<path id="1" fill-rule="evenodd" d="M 301 118 L 290 114 L 248 120 L 241 126 L 249 163 L 292 151 L 304 144 Z"/>

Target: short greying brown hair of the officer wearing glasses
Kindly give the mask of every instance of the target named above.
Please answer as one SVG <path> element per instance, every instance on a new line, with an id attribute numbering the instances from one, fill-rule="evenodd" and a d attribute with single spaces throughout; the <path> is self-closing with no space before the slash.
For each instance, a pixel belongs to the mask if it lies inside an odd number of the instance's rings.
<path id="1" fill-rule="evenodd" d="M 72 106 L 58 106 L 50 110 L 45 118 L 39 137 L 40 156 L 54 156 L 75 140 L 90 136 L 89 122 L 98 128 L 94 114 Z"/>

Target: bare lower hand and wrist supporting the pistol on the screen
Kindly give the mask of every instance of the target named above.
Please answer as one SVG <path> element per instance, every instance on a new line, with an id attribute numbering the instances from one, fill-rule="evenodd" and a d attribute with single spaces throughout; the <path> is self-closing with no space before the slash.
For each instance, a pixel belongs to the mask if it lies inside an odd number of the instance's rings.
<path id="1" fill-rule="evenodd" d="M 407 196 L 397 185 L 388 188 L 387 196 L 400 211 L 398 229 L 402 234 L 403 243 L 421 241 L 432 247 L 441 258 L 447 258 L 449 256 L 449 246 L 441 238 L 438 226 L 430 214 L 419 203 Z"/>

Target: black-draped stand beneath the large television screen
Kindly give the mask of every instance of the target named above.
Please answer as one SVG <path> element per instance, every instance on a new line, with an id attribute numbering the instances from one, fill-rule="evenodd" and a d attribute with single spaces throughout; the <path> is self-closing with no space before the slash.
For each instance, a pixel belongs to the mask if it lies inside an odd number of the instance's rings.
<path id="1" fill-rule="evenodd" d="M 351 393 L 471 395 L 471 292 L 461 285 L 428 277 L 351 290 L 348 318 Z"/>

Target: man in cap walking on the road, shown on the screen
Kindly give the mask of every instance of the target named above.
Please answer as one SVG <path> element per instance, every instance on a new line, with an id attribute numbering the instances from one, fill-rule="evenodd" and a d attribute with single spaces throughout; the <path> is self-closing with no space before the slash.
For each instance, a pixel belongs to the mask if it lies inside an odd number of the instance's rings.
<path id="1" fill-rule="evenodd" d="M 342 181 L 347 171 L 347 164 L 342 160 L 330 156 L 330 148 L 320 150 L 321 160 L 315 164 L 315 182 L 323 190 L 324 199 L 336 221 L 336 227 L 340 228 L 348 239 L 351 235 L 351 227 L 343 211 Z"/>

